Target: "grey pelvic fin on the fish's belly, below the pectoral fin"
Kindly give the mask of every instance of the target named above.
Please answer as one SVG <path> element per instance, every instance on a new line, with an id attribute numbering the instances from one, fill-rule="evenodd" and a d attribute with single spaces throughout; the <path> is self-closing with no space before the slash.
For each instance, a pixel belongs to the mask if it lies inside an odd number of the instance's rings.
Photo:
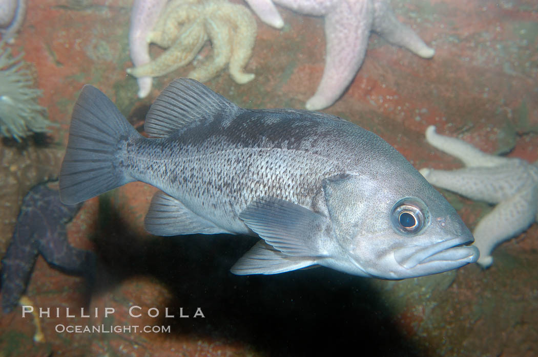
<path id="1" fill-rule="evenodd" d="M 292 257 L 259 241 L 237 260 L 230 272 L 236 275 L 279 274 L 316 264 L 314 258 Z"/>

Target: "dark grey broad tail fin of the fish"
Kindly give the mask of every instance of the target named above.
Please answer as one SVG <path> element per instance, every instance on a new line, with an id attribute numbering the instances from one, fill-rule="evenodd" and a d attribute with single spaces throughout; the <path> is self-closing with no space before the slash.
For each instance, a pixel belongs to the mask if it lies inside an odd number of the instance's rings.
<path id="1" fill-rule="evenodd" d="M 133 181 L 115 164 L 119 142 L 133 135 L 140 134 L 116 105 L 85 85 L 73 108 L 60 170 L 61 201 L 74 205 Z"/>

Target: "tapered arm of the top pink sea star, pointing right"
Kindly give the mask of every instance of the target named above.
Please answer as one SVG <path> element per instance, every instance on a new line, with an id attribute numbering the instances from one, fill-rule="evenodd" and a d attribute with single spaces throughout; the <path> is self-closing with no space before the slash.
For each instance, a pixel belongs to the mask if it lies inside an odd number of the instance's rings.
<path id="1" fill-rule="evenodd" d="M 373 4 L 373 31 L 379 33 L 388 42 L 405 47 L 425 59 L 433 57 L 435 50 L 428 47 L 409 26 L 400 23 L 387 2 L 374 1 Z"/>

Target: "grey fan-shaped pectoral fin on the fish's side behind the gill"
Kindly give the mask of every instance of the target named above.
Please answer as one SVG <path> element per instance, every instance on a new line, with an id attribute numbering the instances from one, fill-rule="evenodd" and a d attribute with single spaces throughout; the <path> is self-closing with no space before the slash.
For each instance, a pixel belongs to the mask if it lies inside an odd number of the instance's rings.
<path id="1" fill-rule="evenodd" d="M 239 218 L 267 244 L 287 256 L 328 256 L 320 248 L 320 242 L 330 222 L 305 207 L 264 197 L 246 206 Z"/>

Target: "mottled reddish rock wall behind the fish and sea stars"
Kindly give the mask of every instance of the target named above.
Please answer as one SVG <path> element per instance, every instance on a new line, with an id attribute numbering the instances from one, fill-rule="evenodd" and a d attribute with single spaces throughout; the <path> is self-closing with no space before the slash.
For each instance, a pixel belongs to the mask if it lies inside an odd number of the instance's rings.
<path id="1" fill-rule="evenodd" d="M 138 98 L 136 79 L 126 73 L 132 67 L 132 5 L 132 0 L 29 2 L 22 27 L 3 43 L 13 57 L 23 54 L 34 88 L 42 91 L 38 104 L 53 125 L 47 134 L 2 140 L 0 256 L 11 242 L 24 196 L 58 177 L 70 115 L 84 84 L 101 89 L 142 132 L 158 93 L 194 69 L 191 63 L 154 78 L 148 96 Z M 538 160 L 538 3 L 390 5 L 435 55 L 422 59 L 372 33 L 355 78 L 323 111 L 383 137 L 417 169 L 462 167 L 426 142 L 430 125 L 484 152 Z M 224 69 L 206 85 L 247 108 L 305 107 L 323 74 L 323 18 L 278 10 L 281 30 L 254 16 L 256 43 L 245 71 L 256 77 L 238 84 Z M 161 53 L 151 46 L 152 57 Z M 206 43 L 194 62 L 210 54 Z M 301 356 L 350 349 L 357 355 L 538 355 L 536 223 L 499 245 L 487 269 L 472 264 L 402 281 L 327 268 L 236 276 L 229 268 L 257 239 L 152 236 L 143 217 L 155 191 L 131 183 L 84 203 L 67 224 L 67 238 L 96 254 L 95 281 L 66 274 L 39 256 L 24 304 L 60 307 L 61 316 L 40 318 L 43 334 L 36 338 L 34 318 L 23 318 L 20 306 L 0 312 L 0 355 Z M 471 230 L 492 209 L 441 192 Z M 141 307 L 141 317 L 129 315 L 132 306 Z M 164 316 L 166 307 L 175 318 Z M 66 308 L 75 317 L 66 317 Z M 91 317 L 81 317 L 81 308 Z M 115 313 L 105 318 L 105 308 Z M 150 308 L 160 315 L 148 316 Z M 180 308 L 188 318 L 179 317 Z M 197 308 L 203 318 L 194 318 Z M 57 332 L 59 324 L 164 325 L 171 332 L 69 333 Z"/>

